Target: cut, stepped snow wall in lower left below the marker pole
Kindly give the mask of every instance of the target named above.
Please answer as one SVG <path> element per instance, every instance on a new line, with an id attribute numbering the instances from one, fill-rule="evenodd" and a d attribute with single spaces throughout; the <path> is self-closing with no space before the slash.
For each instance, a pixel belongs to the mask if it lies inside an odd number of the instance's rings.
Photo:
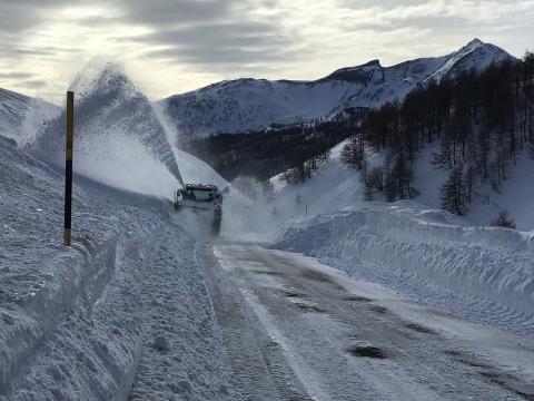
<path id="1" fill-rule="evenodd" d="M 144 254 L 160 224 L 144 225 L 137 235 L 117 229 L 100 241 L 90 233 L 75 237 L 50 285 L 22 303 L 14 315 L 31 330 L 13 324 L 2 348 L 6 399 L 126 399 L 144 344 Z"/>

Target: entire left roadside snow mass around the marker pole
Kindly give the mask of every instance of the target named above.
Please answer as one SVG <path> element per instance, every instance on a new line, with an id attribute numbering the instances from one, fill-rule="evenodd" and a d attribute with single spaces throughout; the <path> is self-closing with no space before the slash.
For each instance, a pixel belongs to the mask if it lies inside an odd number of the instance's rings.
<path id="1" fill-rule="evenodd" d="M 62 176 L 0 137 L 0 400 L 233 399 L 168 202 L 77 177 L 66 247 L 62 200 Z"/>

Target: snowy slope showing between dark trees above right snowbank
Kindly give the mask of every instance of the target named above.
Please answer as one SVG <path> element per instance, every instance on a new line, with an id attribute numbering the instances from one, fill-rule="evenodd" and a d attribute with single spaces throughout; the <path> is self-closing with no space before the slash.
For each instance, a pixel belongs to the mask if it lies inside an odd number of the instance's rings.
<path id="1" fill-rule="evenodd" d="M 354 170 L 339 159 L 340 149 L 349 139 L 330 149 L 330 159 L 324 163 L 314 176 L 299 185 L 288 185 L 283 180 L 284 173 L 270 178 L 276 192 L 276 213 L 284 219 L 299 221 L 324 213 L 337 212 L 365 199 L 365 188 L 360 172 Z M 437 143 L 427 145 L 416 157 L 413 186 L 418 195 L 415 202 L 427 207 L 441 208 L 441 189 L 447 180 L 448 170 L 438 169 L 433 164 L 439 150 Z M 366 149 L 368 168 L 382 166 L 384 154 Z M 464 218 L 474 225 L 488 226 L 501 212 L 508 212 L 520 231 L 534 231 L 534 160 L 531 150 L 524 149 L 517 156 L 516 165 L 500 192 L 487 183 L 474 189 L 474 200 L 467 205 Z M 384 200 L 380 193 L 374 199 Z"/>

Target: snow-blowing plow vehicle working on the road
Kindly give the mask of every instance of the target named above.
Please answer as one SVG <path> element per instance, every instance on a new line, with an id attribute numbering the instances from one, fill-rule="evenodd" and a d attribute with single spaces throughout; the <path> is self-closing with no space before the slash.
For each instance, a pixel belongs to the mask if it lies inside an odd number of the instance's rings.
<path id="1" fill-rule="evenodd" d="M 217 185 L 185 184 L 181 189 L 176 192 L 175 211 L 186 209 L 210 215 L 212 233 L 218 234 L 220 232 L 222 195 Z"/>

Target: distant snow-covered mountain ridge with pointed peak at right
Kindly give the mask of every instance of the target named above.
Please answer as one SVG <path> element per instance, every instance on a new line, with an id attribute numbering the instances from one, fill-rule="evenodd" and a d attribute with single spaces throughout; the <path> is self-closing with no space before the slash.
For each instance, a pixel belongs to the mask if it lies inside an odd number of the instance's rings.
<path id="1" fill-rule="evenodd" d="M 347 107 L 376 107 L 403 98 L 419 84 L 482 70 L 491 62 L 515 60 L 478 39 L 443 57 L 421 58 L 392 67 L 378 60 L 343 68 L 314 81 L 225 80 L 160 101 L 182 135 L 244 133 L 335 115 Z"/>

